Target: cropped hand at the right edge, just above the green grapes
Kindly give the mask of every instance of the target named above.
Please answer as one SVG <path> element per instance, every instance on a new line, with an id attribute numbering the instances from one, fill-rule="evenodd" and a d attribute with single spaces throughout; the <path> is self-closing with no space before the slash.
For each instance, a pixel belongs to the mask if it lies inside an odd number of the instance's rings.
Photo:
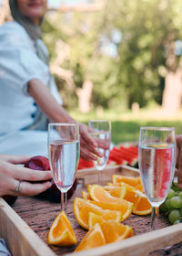
<path id="1" fill-rule="evenodd" d="M 182 188 L 182 135 L 177 135 L 177 159 L 176 159 L 176 167 L 177 167 L 177 183 L 178 187 Z"/>

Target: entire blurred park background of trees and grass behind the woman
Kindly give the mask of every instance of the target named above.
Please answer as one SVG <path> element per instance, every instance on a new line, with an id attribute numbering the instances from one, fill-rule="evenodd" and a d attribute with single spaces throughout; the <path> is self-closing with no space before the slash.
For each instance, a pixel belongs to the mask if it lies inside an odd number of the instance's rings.
<path id="1" fill-rule="evenodd" d="M 182 133 L 181 0 L 49 0 L 43 40 L 64 106 L 110 119 L 115 144 L 141 125 Z M 10 20 L 0 0 L 0 24 Z"/>

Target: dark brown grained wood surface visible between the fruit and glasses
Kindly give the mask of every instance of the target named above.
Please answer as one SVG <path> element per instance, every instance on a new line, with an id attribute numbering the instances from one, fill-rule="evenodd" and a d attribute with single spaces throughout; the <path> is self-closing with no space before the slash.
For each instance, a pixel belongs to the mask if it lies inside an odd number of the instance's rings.
<path id="1" fill-rule="evenodd" d="M 73 201 L 75 197 L 81 197 L 81 191 L 84 190 L 83 187 L 77 187 L 76 192 L 73 197 L 68 200 L 68 215 L 74 218 L 73 215 Z M 85 189 L 86 190 L 86 189 Z M 25 220 L 25 222 L 35 231 L 35 233 L 45 241 L 47 244 L 47 235 L 49 231 L 49 227 L 56 218 L 56 215 L 60 212 L 60 204 L 59 203 L 51 203 L 47 200 L 36 198 L 36 197 L 19 197 L 15 205 L 13 206 L 15 212 Z M 136 216 L 131 215 L 128 219 L 126 219 L 124 224 L 129 225 L 134 229 L 134 235 L 147 233 L 150 231 L 150 216 Z M 170 223 L 167 220 L 167 217 L 164 215 L 160 215 L 159 218 L 159 228 L 164 228 L 169 226 Z M 86 230 L 82 229 L 80 226 L 76 227 L 76 239 L 80 242 L 84 235 L 86 234 Z M 56 252 L 56 255 L 65 255 L 68 252 L 72 252 L 75 250 L 76 246 L 72 247 L 56 247 L 49 246 L 53 251 Z M 135 254 L 134 254 L 135 255 Z M 159 255 L 182 255 L 182 242 L 177 243 L 170 247 L 169 249 L 161 249 L 150 252 L 148 255 L 150 256 L 159 256 Z"/>

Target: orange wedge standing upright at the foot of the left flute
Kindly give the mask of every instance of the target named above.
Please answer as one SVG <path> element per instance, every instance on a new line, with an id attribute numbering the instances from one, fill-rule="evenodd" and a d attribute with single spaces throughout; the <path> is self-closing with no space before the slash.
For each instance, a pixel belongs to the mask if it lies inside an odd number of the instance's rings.
<path id="1" fill-rule="evenodd" d="M 76 244 L 76 235 L 66 213 L 61 211 L 53 221 L 48 233 L 48 243 L 69 246 Z"/>

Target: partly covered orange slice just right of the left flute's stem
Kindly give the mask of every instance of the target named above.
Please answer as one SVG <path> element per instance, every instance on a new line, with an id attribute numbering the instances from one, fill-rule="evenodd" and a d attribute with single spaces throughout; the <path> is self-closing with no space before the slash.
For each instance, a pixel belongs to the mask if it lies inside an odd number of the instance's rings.
<path id="1" fill-rule="evenodd" d="M 84 229 L 88 229 L 88 216 L 89 212 L 93 212 L 96 215 L 102 216 L 104 219 L 113 219 L 120 222 L 123 217 L 120 211 L 102 209 L 96 205 L 91 204 L 82 198 L 76 197 L 73 205 L 74 215 L 77 222 Z"/>

